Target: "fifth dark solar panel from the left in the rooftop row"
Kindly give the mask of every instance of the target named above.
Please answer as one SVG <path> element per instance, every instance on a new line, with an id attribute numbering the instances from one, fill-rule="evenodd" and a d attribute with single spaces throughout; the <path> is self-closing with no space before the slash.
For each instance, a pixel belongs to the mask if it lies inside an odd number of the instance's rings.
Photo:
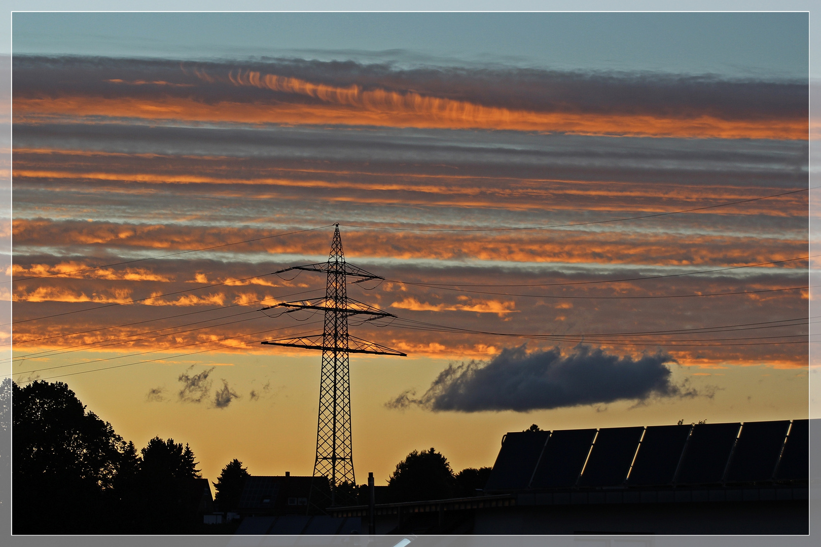
<path id="1" fill-rule="evenodd" d="M 739 427 L 740 423 L 699 423 L 693 426 L 676 484 L 721 482 Z"/>

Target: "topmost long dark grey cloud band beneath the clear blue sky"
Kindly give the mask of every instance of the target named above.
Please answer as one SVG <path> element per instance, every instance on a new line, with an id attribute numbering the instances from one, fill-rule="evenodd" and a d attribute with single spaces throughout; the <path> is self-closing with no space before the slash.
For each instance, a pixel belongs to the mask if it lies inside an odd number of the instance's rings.
<path id="1" fill-rule="evenodd" d="M 100 97 L 186 97 L 203 103 L 230 99 L 259 103 L 310 103 L 288 93 L 238 87 L 229 73 L 258 71 L 314 83 L 362 89 L 387 89 L 465 100 L 491 107 L 540 112 L 805 117 L 805 81 L 722 80 L 714 76 L 652 72 L 546 71 L 522 68 L 397 69 L 384 63 L 268 59 L 248 62 L 178 62 L 106 57 L 27 57 L 12 62 L 16 97 L 57 97 L 63 93 Z M 200 75 L 207 74 L 207 78 Z M 140 81 L 124 85 L 112 80 Z M 152 84 L 163 82 L 163 84 Z"/>

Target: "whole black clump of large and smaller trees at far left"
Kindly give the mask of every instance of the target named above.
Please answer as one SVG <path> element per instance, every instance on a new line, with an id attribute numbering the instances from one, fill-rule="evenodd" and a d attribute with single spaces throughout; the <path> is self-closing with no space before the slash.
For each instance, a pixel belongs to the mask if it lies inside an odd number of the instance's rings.
<path id="1" fill-rule="evenodd" d="M 137 454 L 134 443 L 87 410 L 68 385 L 34 381 L 12 383 L 11 390 L 13 533 L 198 529 L 203 488 L 188 444 L 154 437 Z"/>

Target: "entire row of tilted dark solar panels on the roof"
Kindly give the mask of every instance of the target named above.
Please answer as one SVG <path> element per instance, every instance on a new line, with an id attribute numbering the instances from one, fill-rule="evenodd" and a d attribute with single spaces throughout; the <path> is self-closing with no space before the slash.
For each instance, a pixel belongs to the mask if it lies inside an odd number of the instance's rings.
<path id="1" fill-rule="evenodd" d="M 801 481 L 809 449 L 809 420 L 512 432 L 484 490 Z"/>

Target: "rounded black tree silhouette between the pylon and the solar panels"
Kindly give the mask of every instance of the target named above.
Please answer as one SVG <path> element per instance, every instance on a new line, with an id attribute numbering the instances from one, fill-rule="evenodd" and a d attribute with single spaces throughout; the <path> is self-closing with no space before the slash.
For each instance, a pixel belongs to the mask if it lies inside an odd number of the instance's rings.
<path id="1" fill-rule="evenodd" d="M 447 458 L 435 449 L 407 455 L 388 479 L 392 501 L 445 499 L 453 495 L 453 471 Z"/>

